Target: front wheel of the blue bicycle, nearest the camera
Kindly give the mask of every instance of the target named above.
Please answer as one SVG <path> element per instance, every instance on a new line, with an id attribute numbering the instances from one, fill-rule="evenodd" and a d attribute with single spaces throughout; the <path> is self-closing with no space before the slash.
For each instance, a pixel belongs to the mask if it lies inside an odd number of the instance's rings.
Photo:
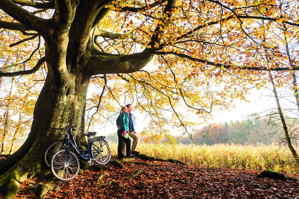
<path id="1" fill-rule="evenodd" d="M 75 178 L 79 169 L 79 158 L 67 149 L 57 151 L 51 159 L 51 171 L 58 180 L 68 181 Z"/>

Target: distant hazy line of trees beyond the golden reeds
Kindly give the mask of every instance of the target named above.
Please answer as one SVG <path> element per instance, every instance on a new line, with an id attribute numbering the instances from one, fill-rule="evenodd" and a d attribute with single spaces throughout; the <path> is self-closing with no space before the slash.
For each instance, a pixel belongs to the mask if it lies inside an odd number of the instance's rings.
<path id="1" fill-rule="evenodd" d="M 289 126 L 293 128 L 293 134 L 298 135 L 298 119 L 287 116 Z M 252 114 L 245 121 L 230 121 L 223 123 L 213 123 L 205 125 L 199 131 L 193 132 L 192 138 L 189 136 L 174 136 L 178 143 L 183 144 L 219 144 L 219 143 L 234 143 L 234 144 L 271 144 L 273 142 L 281 142 L 283 139 L 282 125 L 279 120 L 279 115 L 276 112 L 270 112 L 264 117 L 258 114 Z M 109 142 L 117 142 L 116 133 L 106 136 Z M 140 141 L 150 141 L 147 136 L 141 136 Z M 159 142 L 164 143 L 167 138 L 163 137 Z"/>

